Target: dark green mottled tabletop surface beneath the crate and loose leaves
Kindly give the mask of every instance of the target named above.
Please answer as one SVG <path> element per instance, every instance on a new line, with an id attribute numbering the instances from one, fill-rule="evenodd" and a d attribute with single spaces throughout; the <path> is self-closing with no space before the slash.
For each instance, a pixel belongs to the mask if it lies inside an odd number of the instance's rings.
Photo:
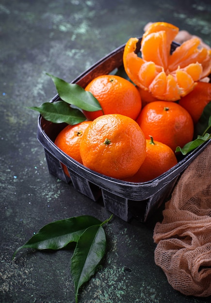
<path id="1" fill-rule="evenodd" d="M 37 113 L 25 106 L 49 101 L 46 72 L 73 80 L 91 64 L 140 36 L 149 21 L 171 22 L 211 45 L 211 2 L 147 0 L 0 1 L 0 302 L 73 303 L 71 251 L 23 250 L 47 223 L 110 213 L 49 175 L 36 139 Z M 153 227 L 115 217 L 106 228 L 108 253 L 81 303 L 199 303 L 167 282 L 154 263 Z"/>

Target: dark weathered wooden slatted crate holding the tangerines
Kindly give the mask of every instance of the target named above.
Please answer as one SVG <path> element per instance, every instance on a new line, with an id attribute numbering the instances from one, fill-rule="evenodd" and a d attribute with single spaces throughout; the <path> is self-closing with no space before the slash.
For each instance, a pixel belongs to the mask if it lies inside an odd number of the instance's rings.
<path id="1" fill-rule="evenodd" d="M 141 38 L 137 45 L 140 49 Z M 85 86 L 95 77 L 112 73 L 123 66 L 124 46 L 121 45 L 113 52 L 97 61 L 88 70 L 74 79 L 81 87 Z M 178 44 L 172 44 L 174 50 Z M 50 102 L 60 100 L 57 94 Z M 207 141 L 195 151 L 180 157 L 176 166 L 158 178 L 142 183 L 131 183 L 116 180 L 90 170 L 62 152 L 54 140 L 59 132 L 66 126 L 65 123 L 55 124 L 46 121 L 41 115 L 38 118 L 37 139 L 43 145 L 49 172 L 66 183 L 72 182 L 74 188 L 94 201 L 102 198 L 104 207 L 125 221 L 135 217 L 142 222 L 146 220 L 161 206 L 172 192 L 182 171 L 202 152 L 211 140 Z M 68 178 L 62 168 L 63 163 L 69 171 Z"/>

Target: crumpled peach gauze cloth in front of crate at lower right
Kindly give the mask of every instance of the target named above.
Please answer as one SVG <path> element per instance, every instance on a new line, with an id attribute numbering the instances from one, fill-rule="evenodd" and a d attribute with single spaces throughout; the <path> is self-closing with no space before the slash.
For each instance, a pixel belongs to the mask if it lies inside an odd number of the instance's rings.
<path id="1" fill-rule="evenodd" d="M 154 229 L 155 263 L 185 295 L 211 296 L 211 144 L 181 174 Z"/>

